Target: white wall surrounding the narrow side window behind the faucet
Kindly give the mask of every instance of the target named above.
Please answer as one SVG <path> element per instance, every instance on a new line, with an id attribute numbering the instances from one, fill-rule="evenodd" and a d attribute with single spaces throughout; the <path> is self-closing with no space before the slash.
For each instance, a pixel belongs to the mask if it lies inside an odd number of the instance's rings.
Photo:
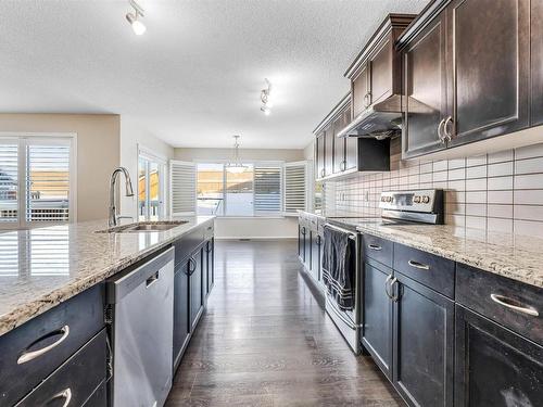
<path id="1" fill-rule="evenodd" d="M 167 195 L 169 189 L 169 167 L 167 163 L 174 157 L 174 148 L 154 137 L 137 118 L 124 115 L 121 116 L 121 165 L 126 167 L 130 173 L 135 194 L 137 194 L 138 182 L 138 148 L 144 148 L 147 151 L 166 161 L 164 203 L 166 213 L 169 214 L 169 199 Z M 121 189 L 121 191 L 123 191 L 123 189 Z M 121 195 L 121 214 L 134 216 L 136 219 L 138 209 L 137 196 L 127 198 L 122 193 Z"/>

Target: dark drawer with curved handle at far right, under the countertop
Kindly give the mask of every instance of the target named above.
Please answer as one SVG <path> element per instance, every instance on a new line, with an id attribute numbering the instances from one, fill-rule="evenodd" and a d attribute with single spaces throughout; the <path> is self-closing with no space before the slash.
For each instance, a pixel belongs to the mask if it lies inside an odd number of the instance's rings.
<path id="1" fill-rule="evenodd" d="M 543 289 L 459 264 L 456 302 L 543 344 Z"/>

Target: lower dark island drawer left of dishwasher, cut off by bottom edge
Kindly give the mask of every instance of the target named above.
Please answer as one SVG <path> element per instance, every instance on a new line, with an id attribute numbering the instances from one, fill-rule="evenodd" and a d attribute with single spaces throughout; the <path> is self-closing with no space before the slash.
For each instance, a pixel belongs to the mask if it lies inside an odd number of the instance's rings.
<path id="1" fill-rule="evenodd" d="M 81 406 L 105 380 L 106 352 L 103 329 L 16 407 Z"/>

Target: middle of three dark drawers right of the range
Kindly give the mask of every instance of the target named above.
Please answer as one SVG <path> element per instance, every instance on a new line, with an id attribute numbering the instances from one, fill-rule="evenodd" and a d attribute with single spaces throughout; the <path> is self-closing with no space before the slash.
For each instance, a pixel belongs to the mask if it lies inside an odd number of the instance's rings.
<path id="1" fill-rule="evenodd" d="M 394 243 L 394 270 L 454 297 L 454 262 Z"/>

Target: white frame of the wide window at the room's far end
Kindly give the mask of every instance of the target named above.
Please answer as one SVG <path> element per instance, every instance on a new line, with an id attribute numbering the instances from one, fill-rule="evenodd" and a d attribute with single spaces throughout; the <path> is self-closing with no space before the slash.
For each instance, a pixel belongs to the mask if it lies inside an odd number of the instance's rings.
<path id="1" fill-rule="evenodd" d="M 228 164 L 228 160 L 194 160 L 193 161 L 194 165 L 197 166 L 195 171 L 197 171 L 197 182 L 195 182 L 195 213 L 198 215 L 198 164 L 222 164 L 223 165 L 223 215 L 216 215 L 219 218 L 228 218 L 228 219 L 277 219 L 277 218 L 283 218 L 285 217 L 285 199 L 283 199 L 283 193 L 285 193 L 285 170 L 281 170 L 281 182 L 280 182 L 280 188 L 281 188 L 281 211 L 275 214 L 266 215 L 255 215 L 254 214 L 254 175 L 253 175 L 253 215 L 226 215 L 227 213 L 227 205 L 228 203 L 226 202 L 226 168 L 224 167 L 225 164 Z M 281 169 L 283 169 L 285 166 L 285 161 L 261 161 L 261 160 L 241 160 L 242 164 L 250 164 L 253 165 L 254 167 L 257 166 L 272 166 L 272 165 L 277 165 Z"/>

